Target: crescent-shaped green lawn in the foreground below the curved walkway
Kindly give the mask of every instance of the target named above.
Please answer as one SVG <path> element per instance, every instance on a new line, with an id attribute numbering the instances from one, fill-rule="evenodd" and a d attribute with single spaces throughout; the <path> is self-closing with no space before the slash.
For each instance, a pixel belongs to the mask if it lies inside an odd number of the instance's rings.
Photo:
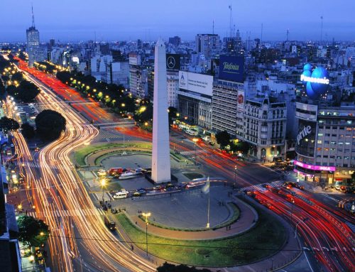
<path id="1" fill-rule="evenodd" d="M 234 266 L 258 261 L 278 251 L 284 244 L 285 229 L 275 217 L 254 207 L 259 220 L 253 229 L 228 239 L 187 241 L 148 235 L 148 251 L 165 259 L 194 266 Z M 117 219 L 136 246 L 146 250 L 146 234 L 125 214 Z M 218 232 L 218 230 L 216 231 Z"/>

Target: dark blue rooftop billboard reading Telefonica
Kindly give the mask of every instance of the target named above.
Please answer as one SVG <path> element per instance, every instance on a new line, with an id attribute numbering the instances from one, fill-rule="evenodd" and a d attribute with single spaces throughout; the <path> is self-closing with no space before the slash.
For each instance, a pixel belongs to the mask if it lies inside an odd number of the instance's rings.
<path id="1" fill-rule="evenodd" d="M 244 57 L 221 55 L 219 58 L 219 79 L 243 82 Z"/>

